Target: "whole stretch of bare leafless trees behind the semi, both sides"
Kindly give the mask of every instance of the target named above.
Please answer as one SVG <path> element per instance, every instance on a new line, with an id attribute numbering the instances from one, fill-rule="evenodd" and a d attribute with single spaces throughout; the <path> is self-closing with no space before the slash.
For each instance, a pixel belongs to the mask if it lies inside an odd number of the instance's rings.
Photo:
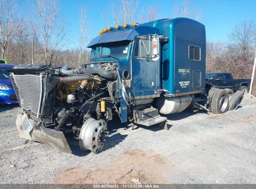
<path id="1" fill-rule="evenodd" d="M 89 62 L 90 50 L 86 45 L 91 40 L 92 31 L 87 10 L 81 8 L 79 12 L 78 47 L 64 50 L 67 43 L 72 41 L 59 4 L 59 0 L 31 1 L 31 16 L 23 16 L 17 0 L 0 0 L 1 58 L 14 64 L 47 63 L 55 67 L 78 67 Z M 159 19 L 158 7 L 151 6 L 146 11 L 139 9 L 138 0 L 111 0 L 109 6 L 108 12 L 102 12 L 105 25 Z M 173 12 L 173 17 L 199 20 L 203 10 L 196 9 L 190 0 L 184 0 L 173 7 Z M 207 42 L 207 71 L 227 71 L 235 78 L 250 78 L 256 45 L 255 22 L 237 23 L 227 39 L 227 42 Z"/>

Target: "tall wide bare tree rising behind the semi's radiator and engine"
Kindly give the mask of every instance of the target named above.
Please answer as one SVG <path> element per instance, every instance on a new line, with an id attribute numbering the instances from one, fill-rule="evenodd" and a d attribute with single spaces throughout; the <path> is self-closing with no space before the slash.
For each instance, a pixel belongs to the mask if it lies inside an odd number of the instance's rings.
<path id="1" fill-rule="evenodd" d="M 44 62 L 52 63 L 66 42 L 66 24 L 59 14 L 58 0 L 37 0 L 37 7 L 32 7 L 34 31 L 39 32 L 39 39 L 44 44 Z"/>

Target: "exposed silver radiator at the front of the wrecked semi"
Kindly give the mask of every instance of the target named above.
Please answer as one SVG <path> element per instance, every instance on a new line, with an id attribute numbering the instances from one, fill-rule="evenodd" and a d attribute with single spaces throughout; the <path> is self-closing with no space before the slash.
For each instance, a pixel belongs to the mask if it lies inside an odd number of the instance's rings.
<path id="1" fill-rule="evenodd" d="M 19 94 L 21 108 L 40 114 L 42 78 L 40 75 L 12 75 Z"/>

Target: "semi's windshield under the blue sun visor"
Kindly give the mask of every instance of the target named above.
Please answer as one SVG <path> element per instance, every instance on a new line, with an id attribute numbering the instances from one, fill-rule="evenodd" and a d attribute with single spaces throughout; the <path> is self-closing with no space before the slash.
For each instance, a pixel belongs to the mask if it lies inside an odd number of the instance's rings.
<path id="1" fill-rule="evenodd" d="M 104 57 L 113 57 L 121 58 L 127 57 L 130 41 L 125 40 L 121 42 L 112 42 L 106 44 L 98 44 L 95 47 L 92 47 L 90 59 L 104 58 Z"/>

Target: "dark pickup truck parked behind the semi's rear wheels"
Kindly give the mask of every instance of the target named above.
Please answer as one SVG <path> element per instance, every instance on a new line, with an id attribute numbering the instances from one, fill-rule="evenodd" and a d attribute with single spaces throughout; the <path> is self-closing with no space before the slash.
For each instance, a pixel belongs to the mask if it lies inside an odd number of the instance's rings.
<path id="1" fill-rule="evenodd" d="M 234 80 L 231 73 L 206 73 L 206 90 L 211 89 L 212 86 L 220 89 L 229 88 L 234 91 L 241 90 L 244 93 L 248 93 L 250 80 Z"/>

